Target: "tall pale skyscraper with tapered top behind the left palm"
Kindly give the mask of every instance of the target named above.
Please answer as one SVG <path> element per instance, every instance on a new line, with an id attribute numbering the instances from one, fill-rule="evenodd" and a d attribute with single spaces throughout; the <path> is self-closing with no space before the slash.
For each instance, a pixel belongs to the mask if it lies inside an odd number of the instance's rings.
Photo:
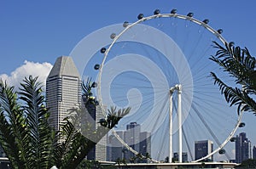
<path id="1" fill-rule="evenodd" d="M 61 56 L 49 72 L 46 80 L 46 104 L 49 108 L 49 125 L 60 130 L 70 109 L 81 104 L 81 80 L 73 59 Z"/>

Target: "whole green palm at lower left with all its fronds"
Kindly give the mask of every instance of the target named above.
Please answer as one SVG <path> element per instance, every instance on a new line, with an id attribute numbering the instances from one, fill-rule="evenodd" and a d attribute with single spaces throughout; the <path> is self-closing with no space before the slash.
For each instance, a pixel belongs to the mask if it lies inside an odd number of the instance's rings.
<path id="1" fill-rule="evenodd" d="M 0 81 L 0 144 L 12 168 L 76 168 L 108 130 L 131 110 L 109 110 L 106 126 L 97 130 L 87 128 L 96 134 L 97 139 L 92 141 L 68 117 L 61 131 L 49 127 L 49 110 L 38 77 L 25 77 L 20 86 L 20 92 L 15 92 L 15 87 Z M 77 110 L 78 114 L 81 110 Z"/>

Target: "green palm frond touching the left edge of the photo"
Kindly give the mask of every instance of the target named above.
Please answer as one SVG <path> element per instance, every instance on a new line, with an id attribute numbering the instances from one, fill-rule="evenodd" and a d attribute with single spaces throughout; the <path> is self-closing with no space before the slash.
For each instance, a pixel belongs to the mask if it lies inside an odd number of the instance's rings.
<path id="1" fill-rule="evenodd" d="M 27 141 L 25 116 L 17 102 L 14 87 L 9 87 L 3 81 L 0 82 L 0 87 L 1 144 L 14 168 L 27 168 L 30 149 Z"/>

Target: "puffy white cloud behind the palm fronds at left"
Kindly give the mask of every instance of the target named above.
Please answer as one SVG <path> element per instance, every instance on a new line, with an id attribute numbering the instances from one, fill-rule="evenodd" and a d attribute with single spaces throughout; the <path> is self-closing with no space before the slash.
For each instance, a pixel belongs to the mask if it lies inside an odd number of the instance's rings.
<path id="1" fill-rule="evenodd" d="M 22 82 L 24 77 L 38 76 L 38 81 L 42 82 L 45 87 L 46 78 L 49 75 L 49 71 L 51 70 L 52 66 L 53 65 L 47 62 L 41 64 L 25 60 L 24 64 L 11 72 L 10 76 L 7 74 L 2 74 L 0 75 L 0 79 L 2 78 L 2 80 L 8 82 L 9 85 L 18 88 L 20 87 L 20 82 Z"/>

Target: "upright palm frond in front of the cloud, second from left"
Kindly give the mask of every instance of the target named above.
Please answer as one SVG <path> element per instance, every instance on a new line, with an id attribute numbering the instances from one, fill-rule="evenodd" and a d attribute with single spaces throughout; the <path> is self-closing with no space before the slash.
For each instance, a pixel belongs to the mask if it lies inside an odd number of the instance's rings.
<path id="1" fill-rule="evenodd" d="M 20 83 L 20 100 L 24 102 L 22 109 L 26 115 L 26 124 L 29 130 L 29 141 L 33 146 L 31 156 L 34 158 L 31 165 L 34 168 L 49 168 L 52 130 L 48 124 L 48 110 L 44 106 L 42 85 L 38 77 L 25 77 Z"/>

